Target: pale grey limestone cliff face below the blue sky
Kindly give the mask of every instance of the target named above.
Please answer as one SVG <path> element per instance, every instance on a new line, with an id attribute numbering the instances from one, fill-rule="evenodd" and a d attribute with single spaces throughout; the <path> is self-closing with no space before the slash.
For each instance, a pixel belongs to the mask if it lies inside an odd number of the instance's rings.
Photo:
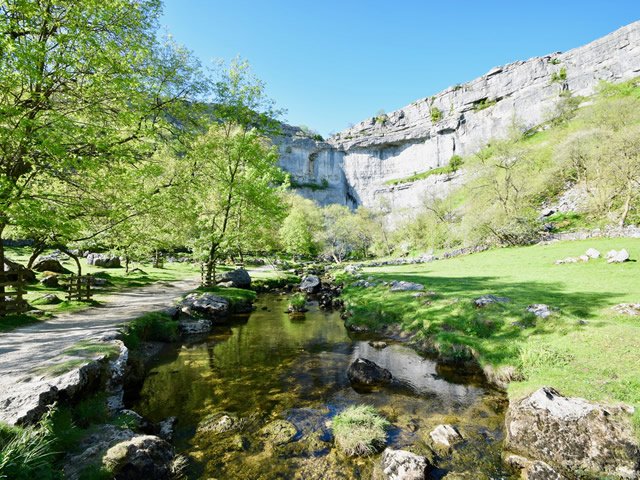
<path id="1" fill-rule="evenodd" d="M 496 67 L 400 110 L 365 120 L 326 142 L 287 127 L 278 141 L 281 166 L 298 183 L 320 186 L 301 193 L 321 204 L 411 210 L 424 195 L 445 195 L 464 181 L 434 175 L 390 186 L 446 165 L 453 155 L 477 152 L 513 125 L 531 128 L 551 118 L 563 95 L 590 95 L 601 80 L 640 76 L 640 22 L 566 53 Z M 325 188 L 322 188 L 322 186 Z"/>

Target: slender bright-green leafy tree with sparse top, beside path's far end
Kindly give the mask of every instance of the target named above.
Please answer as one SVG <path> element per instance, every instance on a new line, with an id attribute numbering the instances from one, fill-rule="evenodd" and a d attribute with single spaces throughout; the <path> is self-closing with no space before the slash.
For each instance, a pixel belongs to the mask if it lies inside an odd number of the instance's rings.
<path id="1" fill-rule="evenodd" d="M 205 284 L 215 282 L 216 263 L 284 214 L 286 177 L 266 137 L 277 131 L 279 111 L 251 75 L 234 60 L 215 84 L 214 123 L 184 157 L 193 247 L 205 261 Z M 277 187 L 280 185 L 280 187 Z"/>

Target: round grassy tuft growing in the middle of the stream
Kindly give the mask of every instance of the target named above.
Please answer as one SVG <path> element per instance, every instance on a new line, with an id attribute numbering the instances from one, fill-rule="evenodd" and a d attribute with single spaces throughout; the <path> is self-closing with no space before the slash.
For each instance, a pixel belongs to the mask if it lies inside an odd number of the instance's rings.
<path id="1" fill-rule="evenodd" d="M 336 444 L 348 456 L 373 455 L 387 441 L 389 422 L 368 405 L 346 408 L 333 419 Z"/>

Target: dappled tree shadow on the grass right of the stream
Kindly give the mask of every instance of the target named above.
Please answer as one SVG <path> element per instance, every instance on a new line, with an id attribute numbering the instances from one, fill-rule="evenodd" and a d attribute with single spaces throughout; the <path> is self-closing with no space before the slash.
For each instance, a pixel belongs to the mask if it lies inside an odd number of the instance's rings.
<path id="1" fill-rule="evenodd" d="M 586 328 L 581 320 L 597 318 L 616 292 L 567 292 L 559 282 L 507 282 L 499 277 L 450 278 L 428 273 L 378 273 L 377 280 L 405 280 L 425 285 L 425 292 L 391 292 L 388 287 L 347 288 L 343 294 L 351 317 L 348 324 L 380 329 L 400 324 L 405 331 L 428 340 L 434 350 L 456 354 L 466 345 L 494 364 L 513 362 L 523 341 L 531 336 L 562 335 Z M 508 297 L 509 302 L 478 308 L 481 295 Z M 544 303 L 557 309 L 546 319 L 527 306 Z M 589 327 L 603 322 L 589 322 Z"/>

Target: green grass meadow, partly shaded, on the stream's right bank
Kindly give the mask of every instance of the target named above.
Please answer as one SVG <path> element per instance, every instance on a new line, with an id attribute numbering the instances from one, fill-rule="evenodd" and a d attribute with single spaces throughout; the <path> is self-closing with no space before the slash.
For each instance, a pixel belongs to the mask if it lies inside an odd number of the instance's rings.
<path id="1" fill-rule="evenodd" d="M 638 411 L 640 322 L 611 307 L 640 302 L 640 263 L 607 264 L 601 258 L 554 265 L 590 247 L 603 254 L 626 248 L 632 259 L 640 257 L 640 239 L 591 239 L 367 269 L 380 280 L 422 283 L 436 295 L 414 298 L 386 287 L 348 287 L 343 293 L 353 313 L 348 322 L 373 328 L 399 323 L 434 352 L 460 357 L 470 352 L 490 370 L 517 369 L 520 379 L 509 385 L 512 397 L 551 385 L 567 395 L 626 402 Z M 512 301 L 476 308 L 472 300 L 487 293 Z M 525 311 L 533 303 L 559 311 L 536 319 Z"/>

